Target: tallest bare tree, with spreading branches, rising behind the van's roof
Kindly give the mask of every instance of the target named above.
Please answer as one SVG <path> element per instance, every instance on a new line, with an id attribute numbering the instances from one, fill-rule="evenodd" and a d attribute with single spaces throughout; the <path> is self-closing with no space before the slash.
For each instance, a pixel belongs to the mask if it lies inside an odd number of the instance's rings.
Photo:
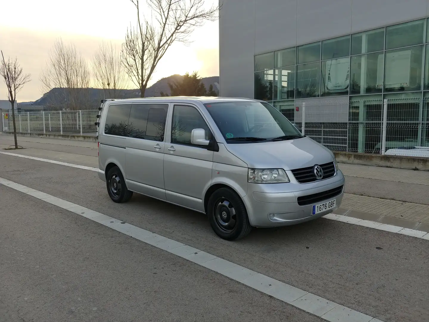
<path id="1" fill-rule="evenodd" d="M 195 27 L 205 21 L 218 19 L 219 6 L 204 9 L 204 0 L 146 0 L 151 11 L 151 21 L 140 20 L 139 0 L 130 0 L 137 9 L 137 29 L 127 30 L 122 44 L 122 62 L 128 76 L 140 88 L 140 97 L 145 90 L 157 64 L 174 42 L 189 43 Z"/>

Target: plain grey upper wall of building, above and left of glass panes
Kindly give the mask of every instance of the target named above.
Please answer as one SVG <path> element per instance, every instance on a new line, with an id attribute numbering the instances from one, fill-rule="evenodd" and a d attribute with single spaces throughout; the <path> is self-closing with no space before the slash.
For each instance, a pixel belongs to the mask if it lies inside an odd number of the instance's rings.
<path id="1" fill-rule="evenodd" d="M 222 0 L 221 96 L 251 97 L 254 55 L 429 16 L 429 0 Z"/>

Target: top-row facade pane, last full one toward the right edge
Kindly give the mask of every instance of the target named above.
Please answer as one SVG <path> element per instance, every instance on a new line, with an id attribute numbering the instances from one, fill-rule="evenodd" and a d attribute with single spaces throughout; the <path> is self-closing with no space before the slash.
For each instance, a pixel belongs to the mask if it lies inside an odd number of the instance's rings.
<path id="1" fill-rule="evenodd" d="M 386 28 L 386 49 L 413 46 L 424 43 L 425 21 L 411 21 Z"/>

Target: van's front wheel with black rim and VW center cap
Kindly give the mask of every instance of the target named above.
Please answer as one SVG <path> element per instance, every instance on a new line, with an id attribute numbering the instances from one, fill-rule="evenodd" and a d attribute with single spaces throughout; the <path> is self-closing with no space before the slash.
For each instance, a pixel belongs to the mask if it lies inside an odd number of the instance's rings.
<path id="1" fill-rule="evenodd" d="M 211 194 L 207 205 L 211 228 L 225 240 L 237 240 L 252 230 L 246 207 L 230 188 L 220 188 Z"/>

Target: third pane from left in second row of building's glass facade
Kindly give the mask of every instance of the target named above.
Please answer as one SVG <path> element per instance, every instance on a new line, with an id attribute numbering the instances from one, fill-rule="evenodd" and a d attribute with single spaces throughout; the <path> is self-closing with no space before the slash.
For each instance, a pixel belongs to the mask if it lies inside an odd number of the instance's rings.
<path id="1" fill-rule="evenodd" d="M 320 62 L 296 66 L 295 98 L 318 97 L 320 93 Z"/>

